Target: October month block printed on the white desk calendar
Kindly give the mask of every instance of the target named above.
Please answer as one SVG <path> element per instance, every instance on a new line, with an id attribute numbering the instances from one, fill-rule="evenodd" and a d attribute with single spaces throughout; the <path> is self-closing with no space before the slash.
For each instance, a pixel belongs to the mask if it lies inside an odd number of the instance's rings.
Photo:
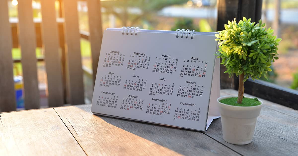
<path id="1" fill-rule="evenodd" d="M 143 109 L 143 102 L 138 98 L 138 96 L 134 95 L 127 95 L 127 97 L 123 97 L 123 100 L 120 105 L 120 109 L 123 110 L 142 110 Z"/>

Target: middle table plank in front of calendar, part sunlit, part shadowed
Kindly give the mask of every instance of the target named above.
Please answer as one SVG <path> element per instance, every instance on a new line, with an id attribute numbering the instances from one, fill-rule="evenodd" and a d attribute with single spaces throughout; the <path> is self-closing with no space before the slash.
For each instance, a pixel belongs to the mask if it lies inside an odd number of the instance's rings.
<path id="1" fill-rule="evenodd" d="M 238 155 L 201 132 L 54 108 L 87 155 Z"/>

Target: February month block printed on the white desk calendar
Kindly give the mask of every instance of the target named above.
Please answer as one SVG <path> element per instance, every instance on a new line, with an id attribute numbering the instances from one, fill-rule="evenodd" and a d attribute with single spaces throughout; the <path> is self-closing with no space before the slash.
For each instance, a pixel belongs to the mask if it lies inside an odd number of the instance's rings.
<path id="1" fill-rule="evenodd" d="M 129 55 L 126 69 L 149 69 L 150 56 L 145 55 L 145 53 L 134 53 L 134 55 Z"/>

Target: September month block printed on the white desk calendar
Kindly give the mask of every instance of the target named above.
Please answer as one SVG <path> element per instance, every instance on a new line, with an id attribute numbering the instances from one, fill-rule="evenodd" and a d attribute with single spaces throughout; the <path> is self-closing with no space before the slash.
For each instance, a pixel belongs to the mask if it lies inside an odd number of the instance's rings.
<path id="1" fill-rule="evenodd" d="M 117 108 L 118 96 L 115 96 L 115 93 L 102 91 L 102 94 L 102 96 L 98 96 L 97 98 L 97 106 Z"/>

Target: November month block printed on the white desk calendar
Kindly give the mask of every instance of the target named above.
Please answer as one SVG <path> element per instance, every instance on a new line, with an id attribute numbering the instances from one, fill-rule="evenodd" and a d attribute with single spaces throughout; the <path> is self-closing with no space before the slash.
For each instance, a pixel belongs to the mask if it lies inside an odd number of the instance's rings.
<path id="1" fill-rule="evenodd" d="M 152 98 L 152 102 L 147 105 L 146 113 L 153 115 L 170 114 L 171 104 L 167 100 Z M 161 101 L 161 102 L 155 102 Z"/>

